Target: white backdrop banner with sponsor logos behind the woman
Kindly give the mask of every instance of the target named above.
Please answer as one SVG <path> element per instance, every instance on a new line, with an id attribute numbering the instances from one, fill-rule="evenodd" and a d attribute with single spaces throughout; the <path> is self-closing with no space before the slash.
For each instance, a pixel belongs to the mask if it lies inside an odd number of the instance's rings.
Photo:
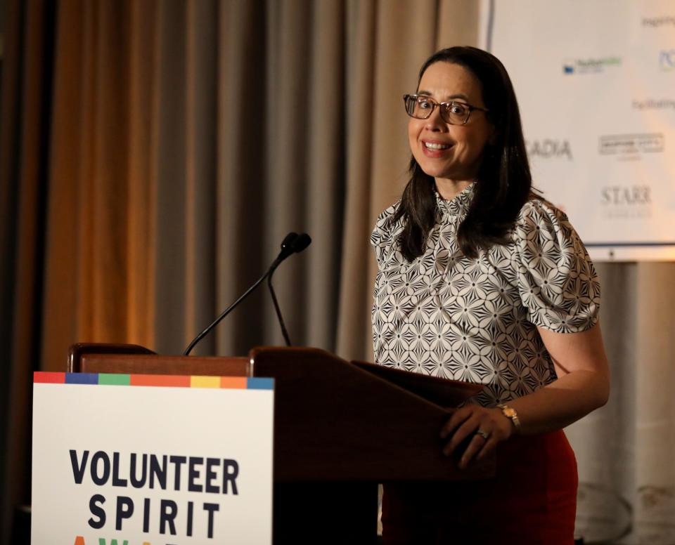
<path id="1" fill-rule="evenodd" d="M 675 4 L 486 0 L 482 18 L 535 187 L 597 261 L 674 260 Z"/>

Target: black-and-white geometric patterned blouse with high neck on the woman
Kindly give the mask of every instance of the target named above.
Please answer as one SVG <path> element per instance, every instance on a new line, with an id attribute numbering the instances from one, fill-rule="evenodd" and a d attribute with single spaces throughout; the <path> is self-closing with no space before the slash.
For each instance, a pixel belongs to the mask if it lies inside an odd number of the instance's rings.
<path id="1" fill-rule="evenodd" d="M 437 198 L 436 223 L 423 256 L 399 251 L 403 223 L 385 210 L 371 244 L 378 258 L 373 303 L 375 361 L 380 365 L 486 386 L 486 407 L 555 380 L 536 326 L 571 333 L 598 321 L 600 285 L 567 216 L 542 199 L 522 207 L 510 242 L 465 257 L 457 229 L 473 185 Z"/>

